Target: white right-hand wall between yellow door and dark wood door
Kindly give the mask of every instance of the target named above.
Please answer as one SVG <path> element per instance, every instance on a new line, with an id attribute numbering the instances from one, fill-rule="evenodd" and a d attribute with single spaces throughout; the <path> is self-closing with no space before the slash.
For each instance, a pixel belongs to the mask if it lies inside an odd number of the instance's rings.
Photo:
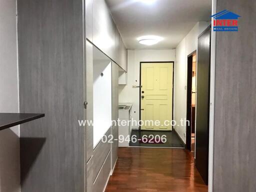
<path id="1" fill-rule="evenodd" d="M 209 25 L 209 22 L 197 22 L 188 34 L 176 47 L 176 60 L 174 67 L 174 120 L 175 130 L 185 143 L 186 127 L 180 124 L 180 119 L 186 118 L 186 79 L 187 55 L 197 49 L 198 35 Z"/>

